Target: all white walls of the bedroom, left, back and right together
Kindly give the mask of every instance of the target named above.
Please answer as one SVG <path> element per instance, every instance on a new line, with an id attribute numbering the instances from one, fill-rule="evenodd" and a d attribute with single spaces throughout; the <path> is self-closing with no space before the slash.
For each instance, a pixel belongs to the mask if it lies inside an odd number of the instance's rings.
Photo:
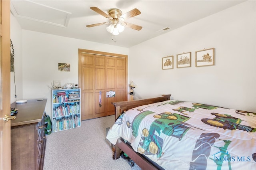
<path id="1" fill-rule="evenodd" d="M 17 100 L 47 98 L 51 83 L 78 83 L 78 48 L 128 55 L 128 79 L 137 98 L 170 93 L 173 99 L 256 112 L 255 1 L 219 12 L 131 48 L 22 30 L 11 15 Z M 195 67 L 195 51 L 216 49 L 215 65 Z M 176 54 L 192 52 L 192 66 L 176 68 Z M 143 54 L 143 55 L 142 55 Z M 162 70 L 162 57 L 174 55 L 174 69 Z M 58 63 L 70 63 L 59 72 Z M 13 74 L 11 73 L 11 76 Z M 11 103 L 14 86 L 11 79 Z"/>

